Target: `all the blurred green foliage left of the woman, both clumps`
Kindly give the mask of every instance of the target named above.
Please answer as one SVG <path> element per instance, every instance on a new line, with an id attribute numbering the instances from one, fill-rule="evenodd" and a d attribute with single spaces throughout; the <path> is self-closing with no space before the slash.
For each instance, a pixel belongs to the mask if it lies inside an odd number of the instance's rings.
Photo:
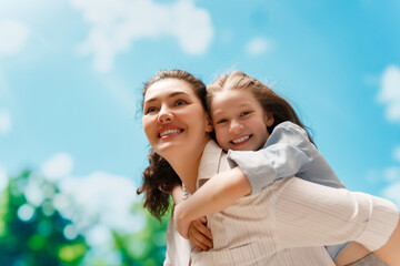
<path id="1" fill-rule="evenodd" d="M 1 265 L 162 265 L 168 218 L 163 218 L 160 224 L 142 208 L 140 202 L 136 202 L 131 215 L 143 225 L 133 233 L 110 228 L 111 250 L 108 250 L 104 257 L 102 250 L 96 250 L 96 247 L 88 244 L 84 232 L 79 232 L 78 227 L 59 212 L 59 195 L 57 184 L 31 171 L 9 178 L 6 190 L 0 191 Z M 62 198 L 66 201 L 66 197 Z M 79 207 L 73 209 L 79 212 Z M 84 216 L 84 213 L 79 215 Z"/>

